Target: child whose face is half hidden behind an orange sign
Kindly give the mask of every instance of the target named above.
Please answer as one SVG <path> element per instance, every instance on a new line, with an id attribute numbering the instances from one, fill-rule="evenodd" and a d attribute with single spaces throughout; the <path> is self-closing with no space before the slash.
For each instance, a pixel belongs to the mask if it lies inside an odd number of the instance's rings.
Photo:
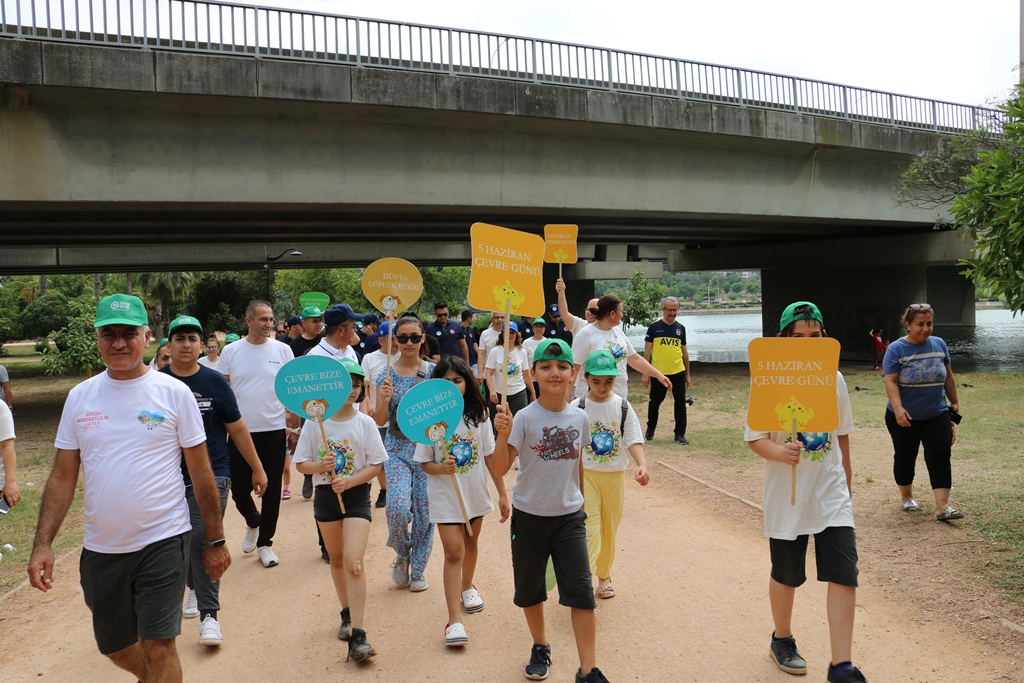
<path id="1" fill-rule="evenodd" d="M 809 301 L 790 304 L 779 321 L 779 337 L 825 336 L 818 307 Z M 837 373 L 839 427 L 831 433 L 761 432 L 746 428 L 743 439 L 765 460 L 765 536 L 771 550 L 771 602 L 775 632 L 772 661 L 790 674 L 806 674 L 807 663 L 793 637 L 793 603 L 797 587 L 806 581 L 804 564 L 808 537 L 814 536 L 818 581 L 828 583 L 830 683 L 865 681 L 851 664 L 853 618 L 857 597 L 857 539 L 850 499 L 850 432 L 853 414 L 843 375 Z M 803 457 L 802 457 L 803 456 Z M 796 504 L 791 504 L 792 468 L 797 471 Z"/>

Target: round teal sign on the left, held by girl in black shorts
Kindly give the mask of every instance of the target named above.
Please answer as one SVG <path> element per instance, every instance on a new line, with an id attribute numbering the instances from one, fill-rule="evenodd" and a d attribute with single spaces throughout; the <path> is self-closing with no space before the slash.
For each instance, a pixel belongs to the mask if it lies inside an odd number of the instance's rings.
<path id="1" fill-rule="evenodd" d="M 300 418 L 327 420 L 352 393 L 352 378 L 334 358 L 304 355 L 278 371 L 273 392 L 285 408 Z"/>

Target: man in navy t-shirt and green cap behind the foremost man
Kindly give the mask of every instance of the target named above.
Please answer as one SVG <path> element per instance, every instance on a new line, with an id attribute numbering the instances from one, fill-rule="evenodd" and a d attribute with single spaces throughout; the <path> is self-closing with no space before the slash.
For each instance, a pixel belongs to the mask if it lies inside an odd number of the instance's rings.
<path id="1" fill-rule="evenodd" d="M 217 492 L 220 494 L 220 516 L 223 517 L 231 477 L 227 455 L 228 434 L 252 468 L 253 489 L 257 496 L 262 496 L 266 488 L 266 472 L 256 454 L 256 446 L 253 445 L 249 429 L 239 412 L 234 392 L 231 391 L 227 380 L 216 370 L 199 365 L 200 353 L 203 350 L 203 328 L 200 322 L 189 315 L 176 318 L 168 328 L 168 338 L 171 362 L 160 372 L 183 382 L 196 396 L 200 414 L 203 416 L 203 427 L 206 429 L 206 447 L 210 465 L 217 481 Z M 188 477 L 188 469 L 183 459 L 181 472 L 184 475 L 185 501 L 188 503 L 188 514 L 193 525 L 189 541 L 188 598 L 181 608 L 181 615 L 185 618 L 200 616 L 200 644 L 216 646 L 224 641 L 220 623 L 217 621 L 217 612 L 220 609 L 220 581 L 211 582 L 203 564 L 203 550 L 206 546 L 203 515 L 196 502 L 191 479 Z"/>

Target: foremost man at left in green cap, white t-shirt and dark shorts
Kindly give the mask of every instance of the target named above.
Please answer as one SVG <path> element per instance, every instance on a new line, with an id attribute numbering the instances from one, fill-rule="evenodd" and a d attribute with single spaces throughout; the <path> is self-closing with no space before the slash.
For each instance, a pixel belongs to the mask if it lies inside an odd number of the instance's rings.
<path id="1" fill-rule="evenodd" d="M 68 394 L 57 455 L 39 509 L 29 581 L 49 591 L 53 539 L 83 472 L 85 549 L 79 562 L 99 651 L 142 681 L 180 681 L 181 631 L 190 524 L 181 459 L 205 524 L 204 564 L 217 580 L 230 565 L 203 419 L 181 382 L 142 362 L 145 306 L 115 294 L 96 309 L 106 372 Z"/>

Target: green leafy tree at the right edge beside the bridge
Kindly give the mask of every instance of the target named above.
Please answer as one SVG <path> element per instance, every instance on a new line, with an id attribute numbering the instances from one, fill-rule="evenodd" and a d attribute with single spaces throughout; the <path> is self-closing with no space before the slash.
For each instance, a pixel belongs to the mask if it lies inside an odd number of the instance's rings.
<path id="1" fill-rule="evenodd" d="M 1024 310 L 1024 86 L 998 111 L 979 130 L 919 155 L 900 176 L 898 201 L 926 208 L 949 203 L 950 220 L 939 227 L 974 240 L 964 274 L 1016 314 Z"/>

